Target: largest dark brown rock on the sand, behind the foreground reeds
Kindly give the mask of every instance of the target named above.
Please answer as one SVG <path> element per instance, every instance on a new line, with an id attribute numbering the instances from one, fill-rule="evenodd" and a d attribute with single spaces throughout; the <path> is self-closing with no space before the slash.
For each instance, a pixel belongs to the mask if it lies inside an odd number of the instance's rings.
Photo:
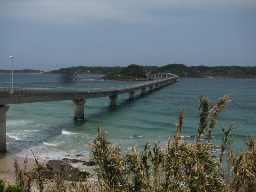
<path id="1" fill-rule="evenodd" d="M 43 168 L 42 173 L 46 179 L 52 179 L 56 172 L 60 172 L 60 174 L 64 176 L 64 179 L 69 181 L 79 181 L 80 178 L 85 180 L 86 176 L 90 175 L 89 172 L 79 171 L 78 168 L 72 167 L 70 164 L 59 160 L 50 160 L 45 165 L 46 167 Z M 35 179 L 35 169 L 31 173 L 32 178 Z"/>

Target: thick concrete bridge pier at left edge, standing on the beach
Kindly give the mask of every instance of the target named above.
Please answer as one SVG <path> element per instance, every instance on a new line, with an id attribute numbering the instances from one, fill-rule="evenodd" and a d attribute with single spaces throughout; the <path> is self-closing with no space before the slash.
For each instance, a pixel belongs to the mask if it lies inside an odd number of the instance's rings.
<path id="1" fill-rule="evenodd" d="M 9 106 L 0 106 L 0 152 L 6 152 L 6 112 Z"/>

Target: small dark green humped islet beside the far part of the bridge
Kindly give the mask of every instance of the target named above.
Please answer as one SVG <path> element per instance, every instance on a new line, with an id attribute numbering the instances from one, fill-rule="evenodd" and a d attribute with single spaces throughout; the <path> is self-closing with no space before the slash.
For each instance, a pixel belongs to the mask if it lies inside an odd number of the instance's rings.
<path id="1" fill-rule="evenodd" d="M 132 64 L 121 71 L 101 77 L 104 80 L 119 80 L 120 78 L 121 80 L 136 80 L 136 78 L 137 80 L 145 80 L 146 74 L 139 65 Z"/>

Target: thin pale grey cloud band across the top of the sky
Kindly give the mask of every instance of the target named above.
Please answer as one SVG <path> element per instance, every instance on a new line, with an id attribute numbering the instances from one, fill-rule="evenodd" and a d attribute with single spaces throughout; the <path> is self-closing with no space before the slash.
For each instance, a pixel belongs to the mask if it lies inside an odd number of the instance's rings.
<path id="1" fill-rule="evenodd" d="M 158 22 L 164 20 L 161 10 L 171 8 L 255 9 L 255 0 L 13 0 L 1 3 L 1 17 L 46 22 L 84 23 L 87 20 L 122 20 Z M 168 18 L 170 20 L 172 18 Z M 178 19 L 178 18 L 176 18 Z"/>

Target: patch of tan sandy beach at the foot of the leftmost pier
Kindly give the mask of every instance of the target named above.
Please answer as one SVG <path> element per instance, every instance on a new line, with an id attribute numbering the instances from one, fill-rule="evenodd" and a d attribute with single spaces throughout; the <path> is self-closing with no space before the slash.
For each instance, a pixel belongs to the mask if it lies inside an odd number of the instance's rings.
<path id="1" fill-rule="evenodd" d="M 7 184 L 14 185 L 14 167 L 13 162 L 14 159 L 18 160 L 18 164 L 21 168 L 23 168 L 23 157 L 16 156 L 12 153 L 0 153 L 0 179 L 6 181 Z M 32 171 L 32 167 L 34 166 L 33 159 L 28 159 L 27 164 L 27 172 Z"/>

